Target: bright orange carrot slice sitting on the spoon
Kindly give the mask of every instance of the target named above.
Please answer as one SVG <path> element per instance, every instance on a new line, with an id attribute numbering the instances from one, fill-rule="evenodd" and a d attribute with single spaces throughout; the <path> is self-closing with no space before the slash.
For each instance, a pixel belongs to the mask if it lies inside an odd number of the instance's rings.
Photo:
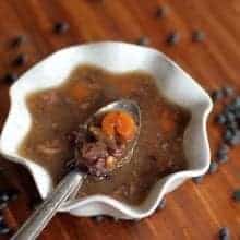
<path id="1" fill-rule="evenodd" d="M 110 137 L 118 133 L 124 141 L 130 141 L 134 137 L 136 125 L 129 113 L 113 111 L 104 117 L 101 129 Z"/>

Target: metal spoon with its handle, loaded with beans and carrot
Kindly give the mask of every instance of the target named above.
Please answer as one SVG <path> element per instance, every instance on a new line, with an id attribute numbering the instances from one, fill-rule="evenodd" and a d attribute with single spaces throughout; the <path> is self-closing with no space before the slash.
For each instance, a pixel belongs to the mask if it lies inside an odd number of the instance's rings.
<path id="1" fill-rule="evenodd" d="M 36 239 L 62 204 L 81 188 L 87 175 L 98 180 L 128 164 L 141 129 L 139 106 L 128 99 L 113 101 L 96 111 L 75 132 L 74 158 L 67 163 L 65 176 L 12 237 Z"/>

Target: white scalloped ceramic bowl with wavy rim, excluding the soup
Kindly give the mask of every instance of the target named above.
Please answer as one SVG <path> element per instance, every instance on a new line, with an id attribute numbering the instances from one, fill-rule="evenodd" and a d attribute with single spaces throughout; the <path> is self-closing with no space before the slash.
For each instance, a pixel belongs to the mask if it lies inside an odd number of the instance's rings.
<path id="1" fill-rule="evenodd" d="M 76 216 L 110 215 L 123 219 L 146 217 L 154 213 L 165 194 L 185 180 L 204 175 L 211 158 L 206 121 L 212 110 L 212 100 L 189 74 L 157 50 L 106 41 L 69 47 L 47 57 L 23 74 L 10 89 L 11 108 L 0 136 L 0 152 L 9 160 L 29 170 L 41 197 L 45 199 L 52 190 L 51 177 L 46 169 L 17 153 L 31 127 L 25 97 L 32 92 L 62 84 L 80 64 L 94 64 L 116 73 L 146 71 L 156 79 L 157 87 L 166 98 L 191 113 L 183 137 L 188 169 L 159 179 L 141 205 L 129 205 L 98 194 L 69 200 L 60 209 Z"/>

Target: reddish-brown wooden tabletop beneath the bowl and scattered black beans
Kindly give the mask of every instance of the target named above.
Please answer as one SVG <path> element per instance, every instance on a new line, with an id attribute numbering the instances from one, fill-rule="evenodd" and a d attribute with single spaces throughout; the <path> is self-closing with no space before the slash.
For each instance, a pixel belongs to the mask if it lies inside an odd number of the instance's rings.
<path id="1" fill-rule="evenodd" d="M 156 17 L 158 5 L 169 12 Z M 52 33 L 59 20 L 70 24 L 65 34 Z M 192 43 L 192 31 L 203 29 L 206 39 Z M 166 44 L 167 35 L 179 32 L 176 46 Z M 10 48 L 16 35 L 25 35 L 20 47 Z M 73 44 L 97 40 L 134 43 L 145 36 L 149 45 L 176 60 L 207 91 L 230 85 L 240 89 L 240 2 L 239 0 L 1 0 L 0 1 L 0 74 L 17 74 L 55 50 Z M 12 67 L 16 53 L 26 53 L 24 67 Z M 9 85 L 0 83 L 1 125 L 9 109 Z M 220 140 L 219 128 L 209 121 L 212 152 Z M 212 240 L 220 227 L 228 226 L 232 239 L 240 239 L 240 203 L 231 200 L 240 188 L 240 148 L 230 153 L 228 164 L 217 173 L 206 176 L 201 184 L 188 181 L 167 196 L 167 206 L 153 216 L 134 221 L 76 218 L 58 214 L 39 239 L 124 239 L 124 240 Z M 28 172 L 20 166 L 1 160 L 8 182 L 21 191 L 4 215 L 16 229 L 31 214 L 29 202 L 36 188 Z M 9 239 L 2 237 L 1 239 Z"/>

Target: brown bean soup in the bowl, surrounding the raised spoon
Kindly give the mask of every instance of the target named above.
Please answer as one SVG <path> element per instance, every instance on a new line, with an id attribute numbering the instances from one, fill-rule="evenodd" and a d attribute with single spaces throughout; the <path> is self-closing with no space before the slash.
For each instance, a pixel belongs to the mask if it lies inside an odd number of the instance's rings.
<path id="1" fill-rule="evenodd" d="M 121 98 L 135 100 L 142 112 L 133 158 L 104 180 L 88 176 L 79 197 L 100 193 L 140 204 L 159 178 L 187 168 L 182 137 L 189 121 L 144 72 L 113 74 L 82 65 L 63 85 L 31 94 L 26 103 L 33 121 L 20 154 L 46 168 L 56 184 L 74 156 L 72 133 L 98 108 Z"/>

